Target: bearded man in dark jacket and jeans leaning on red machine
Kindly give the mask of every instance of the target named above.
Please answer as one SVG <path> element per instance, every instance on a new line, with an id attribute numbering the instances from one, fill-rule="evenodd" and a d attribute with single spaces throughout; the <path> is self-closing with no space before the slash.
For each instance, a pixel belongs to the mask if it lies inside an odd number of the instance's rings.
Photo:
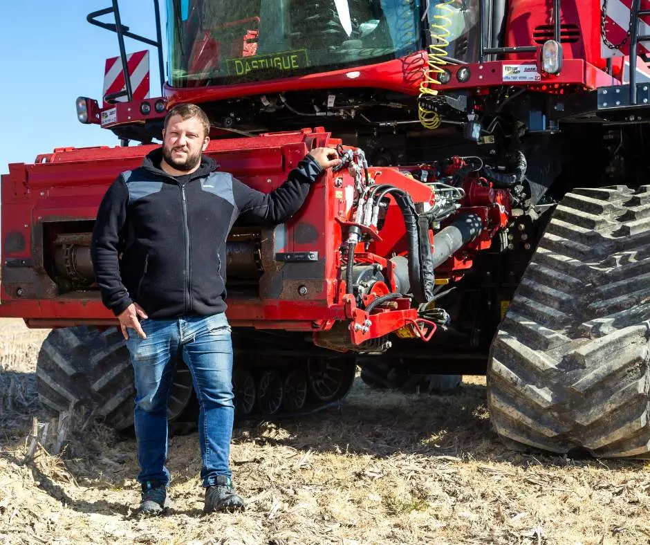
<path id="1" fill-rule="evenodd" d="M 240 214 L 286 221 L 319 174 L 340 160 L 334 149 L 313 149 L 264 194 L 202 155 L 210 122 L 199 107 L 172 108 L 164 127 L 162 148 L 106 192 L 91 250 L 102 301 L 120 321 L 135 371 L 140 509 L 161 514 L 170 505 L 167 400 L 179 353 L 200 406 L 205 512 L 243 509 L 228 465 L 234 405 L 225 239 Z"/>

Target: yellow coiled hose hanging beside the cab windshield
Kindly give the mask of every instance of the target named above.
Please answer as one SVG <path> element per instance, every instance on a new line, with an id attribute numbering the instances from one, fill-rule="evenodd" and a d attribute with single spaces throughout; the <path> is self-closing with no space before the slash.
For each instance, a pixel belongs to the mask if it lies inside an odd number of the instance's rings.
<path id="1" fill-rule="evenodd" d="M 418 97 L 418 117 L 423 127 L 427 129 L 437 129 L 440 126 L 440 116 L 431 106 L 427 104 L 427 97 L 436 96 L 438 90 L 434 86 L 440 85 L 436 79 L 436 74 L 444 71 L 443 66 L 447 64 L 447 46 L 449 46 L 449 27 L 453 21 L 449 15 L 454 15 L 454 10 L 449 4 L 454 0 L 446 0 L 436 3 L 434 6 L 433 17 L 431 17 L 431 45 L 427 55 L 427 66 L 424 70 L 424 77 L 420 84 L 420 96 Z"/>

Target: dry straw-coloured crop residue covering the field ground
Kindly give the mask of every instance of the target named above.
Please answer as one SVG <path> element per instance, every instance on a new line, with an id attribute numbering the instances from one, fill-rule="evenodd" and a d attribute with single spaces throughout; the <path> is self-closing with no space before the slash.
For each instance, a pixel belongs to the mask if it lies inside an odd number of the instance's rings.
<path id="1" fill-rule="evenodd" d="M 0 543 L 650 542 L 647 463 L 506 449 L 477 377 L 453 396 L 382 394 L 358 380 L 338 409 L 237 427 L 241 514 L 202 514 L 197 436 L 171 438 L 174 511 L 140 519 L 133 438 L 95 425 L 68 436 L 61 456 L 39 448 L 25 462 L 45 335 L 0 320 Z"/>

